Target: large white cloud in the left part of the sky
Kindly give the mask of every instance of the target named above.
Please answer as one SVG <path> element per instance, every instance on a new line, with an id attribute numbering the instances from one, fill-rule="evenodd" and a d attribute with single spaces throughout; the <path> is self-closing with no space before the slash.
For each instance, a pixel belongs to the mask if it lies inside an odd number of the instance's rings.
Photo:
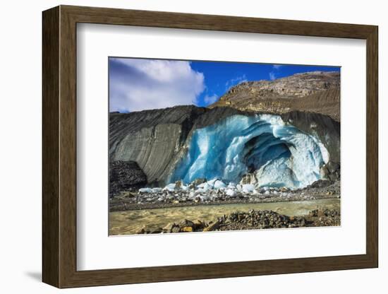
<path id="1" fill-rule="evenodd" d="M 197 102 L 203 73 L 188 61 L 109 59 L 110 111 L 133 112 Z"/>

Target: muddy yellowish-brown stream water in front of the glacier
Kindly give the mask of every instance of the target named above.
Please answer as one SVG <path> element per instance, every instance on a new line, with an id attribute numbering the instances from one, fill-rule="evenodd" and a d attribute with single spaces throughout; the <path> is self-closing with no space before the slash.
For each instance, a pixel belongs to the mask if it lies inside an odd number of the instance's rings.
<path id="1" fill-rule="evenodd" d="M 286 216 L 303 216 L 317 208 L 338 209 L 340 199 L 318 199 L 310 201 L 290 201 L 261 204 L 222 204 L 154 208 L 136 211 L 118 211 L 109 213 L 109 235 L 128 235 L 147 227 L 150 230 L 164 228 L 169 223 L 181 220 L 215 220 L 219 216 L 235 211 L 272 210 Z"/>

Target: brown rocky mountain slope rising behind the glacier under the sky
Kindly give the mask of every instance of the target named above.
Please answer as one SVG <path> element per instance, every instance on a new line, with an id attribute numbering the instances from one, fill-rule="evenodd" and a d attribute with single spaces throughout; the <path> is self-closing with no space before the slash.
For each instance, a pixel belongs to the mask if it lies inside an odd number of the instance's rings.
<path id="1" fill-rule="evenodd" d="M 339 72 L 297 73 L 274 81 L 248 81 L 232 87 L 212 107 L 283 114 L 293 110 L 326 114 L 340 121 Z"/>

